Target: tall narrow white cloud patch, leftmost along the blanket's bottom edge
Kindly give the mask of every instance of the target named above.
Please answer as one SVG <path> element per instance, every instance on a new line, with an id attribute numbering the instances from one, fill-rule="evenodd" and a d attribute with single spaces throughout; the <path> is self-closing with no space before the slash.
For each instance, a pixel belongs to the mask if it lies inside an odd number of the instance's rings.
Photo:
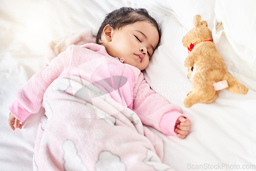
<path id="1" fill-rule="evenodd" d="M 66 140 L 63 145 L 64 149 L 64 168 L 66 171 L 88 171 L 87 167 L 82 164 L 81 158 L 77 154 L 75 143 L 72 140 Z"/>

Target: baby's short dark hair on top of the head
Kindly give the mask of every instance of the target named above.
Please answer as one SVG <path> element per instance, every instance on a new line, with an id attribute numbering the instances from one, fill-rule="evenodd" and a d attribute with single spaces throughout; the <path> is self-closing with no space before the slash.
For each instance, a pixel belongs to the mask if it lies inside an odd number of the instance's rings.
<path id="1" fill-rule="evenodd" d="M 122 7 L 120 9 L 114 10 L 108 15 L 106 15 L 105 19 L 101 23 L 101 26 L 98 30 L 96 36 L 96 43 L 101 44 L 101 35 L 103 29 L 106 25 L 110 25 L 113 29 L 120 29 L 126 25 L 133 24 L 136 22 L 148 21 L 153 24 L 157 28 L 159 39 L 160 39 L 160 27 L 157 21 L 148 14 L 148 11 L 144 8 L 131 8 L 131 7 Z"/>

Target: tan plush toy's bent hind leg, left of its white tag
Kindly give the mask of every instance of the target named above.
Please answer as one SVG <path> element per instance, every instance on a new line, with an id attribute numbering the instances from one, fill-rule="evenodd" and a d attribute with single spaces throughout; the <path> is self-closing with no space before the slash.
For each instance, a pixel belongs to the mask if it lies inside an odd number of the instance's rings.
<path id="1" fill-rule="evenodd" d="M 196 103 L 211 103 L 218 96 L 214 87 L 212 86 L 212 80 L 195 75 L 193 78 L 193 91 L 191 91 L 184 100 L 186 108 L 190 108 Z"/>

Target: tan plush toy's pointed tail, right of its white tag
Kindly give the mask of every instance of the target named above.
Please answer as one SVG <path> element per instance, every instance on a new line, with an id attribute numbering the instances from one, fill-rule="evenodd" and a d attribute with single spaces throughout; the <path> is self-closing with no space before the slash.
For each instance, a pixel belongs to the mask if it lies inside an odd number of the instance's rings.
<path id="1" fill-rule="evenodd" d="M 225 74 L 223 79 L 227 80 L 228 88 L 226 88 L 226 90 L 228 90 L 229 92 L 241 95 L 248 92 L 248 88 L 229 73 Z"/>

